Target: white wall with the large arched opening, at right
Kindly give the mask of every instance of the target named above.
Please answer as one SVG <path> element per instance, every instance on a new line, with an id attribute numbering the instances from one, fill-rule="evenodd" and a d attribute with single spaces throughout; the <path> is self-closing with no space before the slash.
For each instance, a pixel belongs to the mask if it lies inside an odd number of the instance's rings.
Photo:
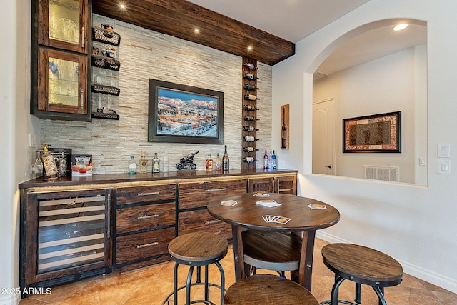
<path id="1" fill-rule="evenodd" d="M 299 41 L 295 56 L 273 66 L 273 110 L 287 99 L 293 114 L 294 145 L 287 156 L 279 151 L 278 158 L 288 157 L 286 167 L 298 166 L 302 195 L 326 201 L 341 212 L 341 221 L 318 236 L 384 251 L 398 259 L 406 273 L 453 292 L 457 170 L 451 166 L 450 175 L 438 174 L 436 147 L 457 147 L 456 14 L 456 1 L 371 0 Z M 395 18 L 423 20 L 428 27 L 428 187 L 310 174 L 313 72 L 339 43 L 351 38 L 344 34 L 356 35 L 364 24 Z M 273 114 L 276 144 L 280 117 Z M 451 153 L 451 165 L 456 156 Z"/>

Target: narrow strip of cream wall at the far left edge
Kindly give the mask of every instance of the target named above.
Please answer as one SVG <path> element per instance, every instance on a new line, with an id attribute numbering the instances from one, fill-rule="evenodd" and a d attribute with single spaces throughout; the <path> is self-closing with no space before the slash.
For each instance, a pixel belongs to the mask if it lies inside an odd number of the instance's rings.
<path id="1" fill-rule="evenodd" d="M 30 0 L 4 1 L 0 10 L 0 288 L 19 287 L 19 193 L 28 175 L 30 91 Z M 0 294 L 0 304 L 18 304 L 19 294 Z"/>

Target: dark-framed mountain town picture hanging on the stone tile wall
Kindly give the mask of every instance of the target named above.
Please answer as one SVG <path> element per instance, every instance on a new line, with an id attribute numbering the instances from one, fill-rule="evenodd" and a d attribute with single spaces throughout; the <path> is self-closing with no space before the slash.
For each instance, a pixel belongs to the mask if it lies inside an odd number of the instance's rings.
<path id="1" fill-rule="evenodd" d="M 224 143 L 224 92 L 149 79 L 148 141 Z"/>

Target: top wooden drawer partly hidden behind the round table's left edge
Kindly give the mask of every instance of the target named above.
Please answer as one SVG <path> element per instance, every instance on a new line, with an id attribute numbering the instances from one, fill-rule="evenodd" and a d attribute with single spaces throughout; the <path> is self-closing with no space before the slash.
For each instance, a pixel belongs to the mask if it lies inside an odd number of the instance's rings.
<path id="1" fill-rule="evenodd" d="M 216 196 L 226 194 L 227 199 L 230 199 L 230 194 L 246 193 L 246 188 L 246 179 L 178 184 L 178 207 L 191 209 L 206 206 Z"/>

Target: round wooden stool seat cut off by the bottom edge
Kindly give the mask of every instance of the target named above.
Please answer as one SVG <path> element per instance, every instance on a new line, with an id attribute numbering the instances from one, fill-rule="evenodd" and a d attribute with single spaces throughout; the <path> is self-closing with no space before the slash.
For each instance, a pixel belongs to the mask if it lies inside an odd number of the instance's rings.
<path id="1" fill-rule="evenodd" d="M 236 281 L 224 297 L 224 305 L 318 305 L 305 287 L 289 279 L 257 274 Z"/>

